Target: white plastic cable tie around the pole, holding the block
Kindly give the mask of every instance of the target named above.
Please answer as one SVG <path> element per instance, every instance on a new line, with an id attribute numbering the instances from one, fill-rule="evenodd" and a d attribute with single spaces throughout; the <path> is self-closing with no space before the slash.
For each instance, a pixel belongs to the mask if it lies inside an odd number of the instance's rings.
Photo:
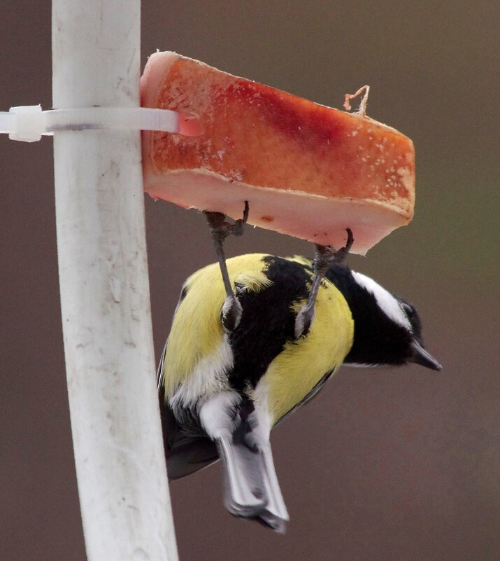
<path id="1" fill-rule="evenodd" d="M 11 107 L 0 111 L 0 133 L 11 140 L 34 142 L 43 134 L 61 130 L 160 130 L 179 132 L 180 113 L 149 107 L 85 107 L 49 109 L 40 105 Z"/>

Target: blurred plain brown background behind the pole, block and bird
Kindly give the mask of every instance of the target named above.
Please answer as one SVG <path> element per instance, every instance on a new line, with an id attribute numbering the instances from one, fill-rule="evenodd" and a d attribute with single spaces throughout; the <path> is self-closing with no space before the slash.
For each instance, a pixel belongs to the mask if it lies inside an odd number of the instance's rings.
<path id="1" fill-rule="evenodd" d="M 50 2 L 1 12 L 0 110 L 48 109 Z M 337 107 L 371 85 L 369 115 L 415 141 L 417 209 L 350 263 L 417 305 L 444 365 L 343 368 L 276 429 L 285 536 L 224 510 L 218 466 L 173 483 L 181 561 L 500 559 L 499 12 L 481 0 L 143 1 L 143 64 L 177 50 Z M 0 559 L 83 561 L 52 140 L 1 137 L 0 169 Z M 159 354 L 180 284 L 214 255 L 202 216 L 145 203 Z M 311 254 L 252 228 L 227 250 Z"/>

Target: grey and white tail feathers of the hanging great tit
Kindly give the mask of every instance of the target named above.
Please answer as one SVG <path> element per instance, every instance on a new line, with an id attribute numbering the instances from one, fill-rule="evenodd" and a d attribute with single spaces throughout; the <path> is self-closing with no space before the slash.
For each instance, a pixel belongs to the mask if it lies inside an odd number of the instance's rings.
<path id="1" fill-rule="evenodd" d="M 243 442 L 235 442 L 232 435 L 220 436 L 215 442 L 224 466 L 224 504 L 229 512 L 285 532 L 289 518 L 269 443 L 250 449 Z"/>

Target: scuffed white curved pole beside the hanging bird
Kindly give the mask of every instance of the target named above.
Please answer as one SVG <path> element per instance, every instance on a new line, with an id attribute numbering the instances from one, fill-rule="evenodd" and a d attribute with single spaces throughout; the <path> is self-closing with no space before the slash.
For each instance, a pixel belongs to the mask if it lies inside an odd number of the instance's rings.
<path id="1" fill-rule="evenodd" d="M 53 104 L 138 106 L 140 0 L 53 0 Z M 69 407 L 89 561 L 175 561 L 138 132 L 54 136 Z"/>

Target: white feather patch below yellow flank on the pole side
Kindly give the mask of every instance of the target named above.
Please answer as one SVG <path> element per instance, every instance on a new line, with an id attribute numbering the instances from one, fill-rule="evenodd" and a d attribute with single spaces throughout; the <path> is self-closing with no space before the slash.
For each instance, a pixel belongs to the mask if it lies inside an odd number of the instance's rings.
<path id="1" fill-rule="evenodd" d="M 224 334 L 217 350 L 197 363 L 189 378 L 183 382 L 169 399 L 171 408 L 192 408 L 220 392 L 227 392 L 227 370 L 232 368 L 234 356 L 229 338 Z"/>

